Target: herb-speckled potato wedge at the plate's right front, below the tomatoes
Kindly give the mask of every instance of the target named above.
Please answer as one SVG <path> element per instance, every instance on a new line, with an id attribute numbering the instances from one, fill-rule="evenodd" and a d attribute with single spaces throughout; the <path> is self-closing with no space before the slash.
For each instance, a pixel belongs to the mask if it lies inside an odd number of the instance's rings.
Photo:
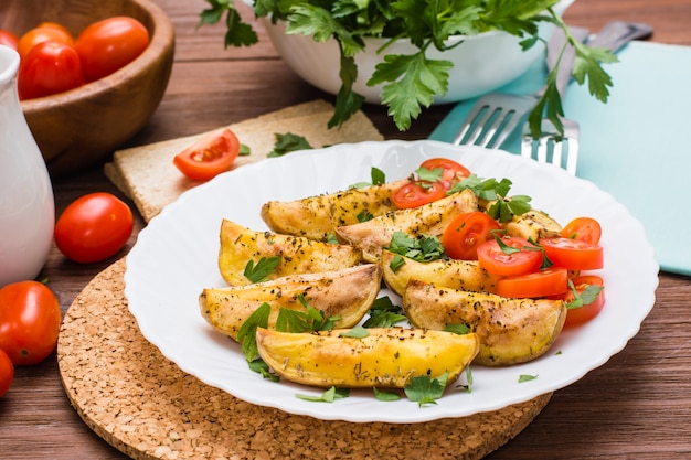
<path id="1" fill-rule="evenodd" d="M 552 346 L 566 319 L 562 300 L 508 299 L 416 280 L 406 287 L 402 307 L 418 328 L 467 324 L 480 340 L 474 362 L 487 366 L 536 359 Z"/>

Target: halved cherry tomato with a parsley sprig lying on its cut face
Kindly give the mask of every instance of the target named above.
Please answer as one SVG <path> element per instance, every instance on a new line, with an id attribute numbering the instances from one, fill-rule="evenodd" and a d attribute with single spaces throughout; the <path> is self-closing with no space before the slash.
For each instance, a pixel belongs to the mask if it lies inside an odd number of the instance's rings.
<path id="1" fill-rule="evenodd" d="M 502 249 L 492 238 L 478 247 L 478 263 L 481 268 L 490 274 L 518 276 L 538 271 L 542 266 L 542 252 L 528 242 L 517 236 L 501 238 L 508 250 Z M 517 250 L 518 249 L 518 250 Z"/>

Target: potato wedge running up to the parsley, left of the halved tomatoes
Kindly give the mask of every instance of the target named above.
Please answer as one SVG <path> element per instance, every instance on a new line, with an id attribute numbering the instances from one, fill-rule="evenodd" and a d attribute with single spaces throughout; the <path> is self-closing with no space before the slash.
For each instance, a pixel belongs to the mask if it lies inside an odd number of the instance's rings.
<path id="1" fill-rule="evenodd" d="M 376 263 L 381 258 L 382 248 L 391 244 L 395 232 L 413 236 L 439 236 L 456 215 L 477 208 L 475 194 L 464 190 L 419 207 L 400 210 L 366 222 L 338 227 L 336 236 L 342 243 L 361 248 L 364 260 Z"/>

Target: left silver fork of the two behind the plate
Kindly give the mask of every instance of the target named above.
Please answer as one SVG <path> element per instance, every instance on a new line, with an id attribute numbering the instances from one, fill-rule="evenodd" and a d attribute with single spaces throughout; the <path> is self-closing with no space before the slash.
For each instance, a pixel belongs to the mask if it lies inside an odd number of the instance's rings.
<path id="1" fill-rule="evenodd" d="M 588 31 L 582 28 L 568 29 L 574 39 L 584 41 Z M 561 32 L 561 33 L 556 33 Z M 554 68 L 559 53 L 566 38 L 563 31 L 555 30 L 548 41 L 546 65 L 548 69 Z M 563 75 L 568 82 L 573 66 L 573 55 L 562 57 L 559 75 Z M 521 119 L 532 109 L 542 96 L 544 88 L 533 95 L 518 95 L 504 93 L 490 93 L 478 99 L 460 124 L 453 143 L 476 145 L 490 149 L 498 149 L 507 137 L 518 127 Z"/>

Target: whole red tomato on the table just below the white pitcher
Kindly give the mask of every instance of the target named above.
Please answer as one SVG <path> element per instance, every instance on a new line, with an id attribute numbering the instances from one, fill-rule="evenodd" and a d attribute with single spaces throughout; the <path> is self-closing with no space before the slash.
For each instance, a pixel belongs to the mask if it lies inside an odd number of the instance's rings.
<path id="1" fill-rule="evenodd" d="M 60 303 L 42 282 L 20 281 L 0 289 L 0 349 L 14 365 L 32 365 L 55 350 Z"/>

